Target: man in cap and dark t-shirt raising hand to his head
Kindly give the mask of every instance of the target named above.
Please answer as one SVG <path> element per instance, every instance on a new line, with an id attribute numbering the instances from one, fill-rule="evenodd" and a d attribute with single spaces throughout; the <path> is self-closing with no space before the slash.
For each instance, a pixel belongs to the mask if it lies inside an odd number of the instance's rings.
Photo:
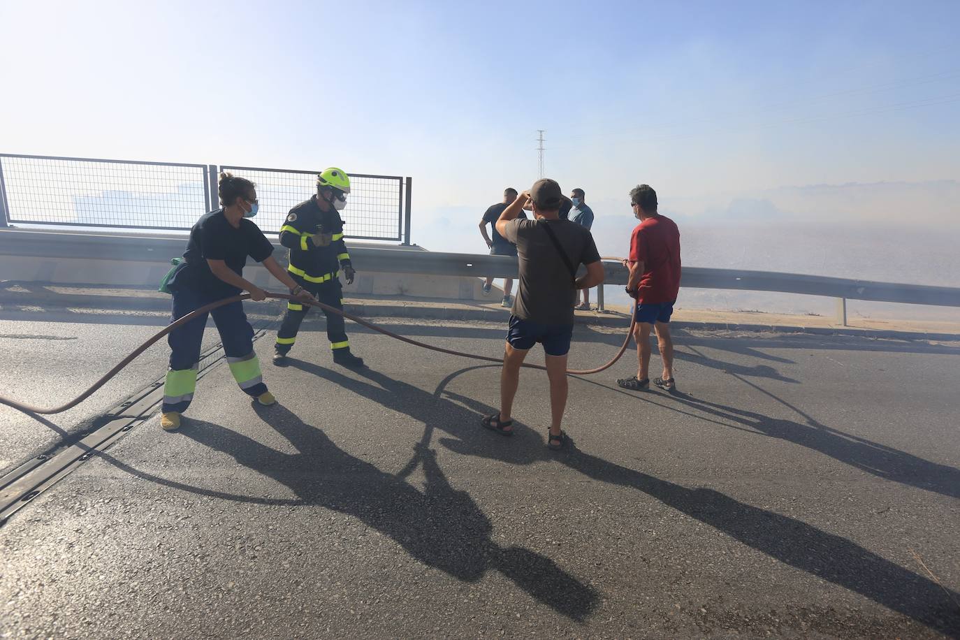
<path id="1" fill-rule="evenodd" d="M 504 436 L 514 433 L 511 411 L 520 381 L 520 366 L 537 343 L 546 352 L 550 380 L 551 449 L 563 448 L 566 434 L 560 424 L 566 408 L 566 354 L 573 334 L 573 299 L 579 289 L 603 282 L 600 254 L 587 228 L 560 219 L 564 200 L 555 180 L 540 179 L 500 214 L 496 230 L 516 245 L 520 284 L 514 298 L 500 373 L 500 412 L 485 417 L 483 425 Z M 516 220 L 528 202 L 535 220 Z M 576 277 L 577 267 L 587 274 Z"/>

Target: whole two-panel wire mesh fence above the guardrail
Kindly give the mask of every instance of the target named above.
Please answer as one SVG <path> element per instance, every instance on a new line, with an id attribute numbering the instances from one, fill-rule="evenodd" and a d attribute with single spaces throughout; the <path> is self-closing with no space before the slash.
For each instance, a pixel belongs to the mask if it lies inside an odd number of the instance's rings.
<path id="1" fill-rule="evenodd" d="M 219 206 L 221 170 L 257 184 L 265 233 L 316 191 L 317 171 L 0 154 L 0 227 L 57 225 L 186 230 Z M 410 244 L 412 180 L 353 174 L 348 238 Z M 405 207 L 405 210 L 404 210 Z"/>

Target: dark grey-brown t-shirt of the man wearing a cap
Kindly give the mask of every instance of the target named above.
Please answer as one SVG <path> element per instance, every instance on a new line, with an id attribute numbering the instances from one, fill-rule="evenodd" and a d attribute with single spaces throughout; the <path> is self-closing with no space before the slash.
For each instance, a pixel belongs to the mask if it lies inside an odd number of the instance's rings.
<path id="1" fill-rule="evenodd" d="M 543 225 L 553 229 L 574 267 L 600 259 L 593 236 L 581 225 L 566 220 L 511 221 L 505 237 L 516 245 L 520 270 L 513 313 L 542 324 L 573 324 L 573 279 Z"/>

